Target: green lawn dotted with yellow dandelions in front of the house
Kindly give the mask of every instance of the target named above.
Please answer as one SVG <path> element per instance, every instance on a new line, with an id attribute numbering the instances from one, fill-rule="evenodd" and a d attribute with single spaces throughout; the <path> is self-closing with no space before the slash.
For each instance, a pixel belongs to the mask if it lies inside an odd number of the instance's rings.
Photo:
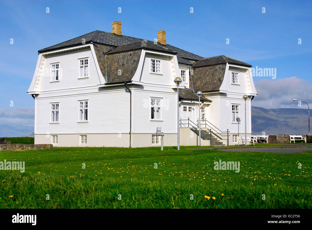
<path id="1" fill-rule="evenodd" d="M 0 171 L 0 208 L 312 208 L 312 151 L 196 147 L 2 151 L 0 161 L 25 161 L 26 169 Z M 240 161 L 240 172 L 214 170 L 219 159 Z"/>

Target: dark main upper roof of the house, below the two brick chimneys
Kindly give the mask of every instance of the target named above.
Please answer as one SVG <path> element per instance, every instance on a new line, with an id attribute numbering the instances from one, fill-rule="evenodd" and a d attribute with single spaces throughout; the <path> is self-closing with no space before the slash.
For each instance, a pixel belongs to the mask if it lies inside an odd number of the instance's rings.
<path id="1" fill-rule="evenodd" d="M 38 52 L 43 53 L 46 51 L 58 50 L 58 49 L 63 49 L 63 48 L 67 48 L 67 47 L 81 45 L 83 39 L 85 39 L 84 41 L 86 44 L 90 43 L 90 42 L 94 42 L 94 43 L 99 43 L 99 44 L 109 45 L 109 46 L 116 46 L 116 47 L 117 46 L 123 46 L 123 45 L 130 44 L 130 43 L 135 43 L 138 41 L 143 41 L 143 39 L 140 39 L 140 38 L 129 37 L 129 36 L 125 36 L 125 35 L 117 35 L 117 34 L 110 33 L 110 32 L 96 30 L 96 31 L 87 33 L 85 35 L 81 35 L 79 37 L 73 38 L 71 40 L 61 42 L 61 43 L 56 44 L 54 46 L 50 46 L 50 47 L 47 47 L 45 49 L 38 50 Z M 154 43 L 153 41 L 150 41 L 150 42 Z M 162 45 L 162 44 L 158 43 L 157 46 L 162 46 L 165 49 L 176 51 L 177 57 L 178 57 L 178 62 L 182 63 L 182 64 L 192 65 L 193 61 L 197 61 L 197 60 L 203 58 L 201 56 L 187 52 L 187 51 L 179 49 L 175 46 L 171 46 L 169 44 Z"/>

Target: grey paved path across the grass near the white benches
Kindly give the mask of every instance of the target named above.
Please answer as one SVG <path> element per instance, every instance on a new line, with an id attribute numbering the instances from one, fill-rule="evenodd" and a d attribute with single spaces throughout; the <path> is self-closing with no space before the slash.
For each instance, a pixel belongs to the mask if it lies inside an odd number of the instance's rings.
<path id="1" fill-rule="evenodd" d="M 298 153 L 302 151 L 309 151 L 312 148 L 233 148 L 233 149 L 218 149 L 219 151 L 231 152 L 282 152 L 282 153 Z"/>

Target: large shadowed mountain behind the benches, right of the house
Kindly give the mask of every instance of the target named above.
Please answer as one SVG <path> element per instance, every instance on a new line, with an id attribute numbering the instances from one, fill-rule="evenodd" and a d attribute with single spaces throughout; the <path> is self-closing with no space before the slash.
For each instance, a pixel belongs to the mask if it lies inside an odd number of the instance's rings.
<path id="1" fill-rule="evenodd" d="M 262 134 L 262 132 L 266 135 L 306 135 L 309 132 L 308 110 L 251 106 L 251 131 L 255 135 Z"/>

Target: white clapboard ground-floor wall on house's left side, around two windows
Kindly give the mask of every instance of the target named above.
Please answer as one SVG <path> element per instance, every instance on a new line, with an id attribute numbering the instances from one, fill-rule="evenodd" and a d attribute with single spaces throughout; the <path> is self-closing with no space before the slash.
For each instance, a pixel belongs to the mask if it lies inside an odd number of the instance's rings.
<path id="1" fill-rule="evenodd" d="M 78 100 L 89 99 L 89 122 L 78 123 Z M 59 102 L 60 122 L 50 124 L 50 103 Z M 130 97 L 125 90 L 36 99 L 36 134 L 127 133 Z"/>

